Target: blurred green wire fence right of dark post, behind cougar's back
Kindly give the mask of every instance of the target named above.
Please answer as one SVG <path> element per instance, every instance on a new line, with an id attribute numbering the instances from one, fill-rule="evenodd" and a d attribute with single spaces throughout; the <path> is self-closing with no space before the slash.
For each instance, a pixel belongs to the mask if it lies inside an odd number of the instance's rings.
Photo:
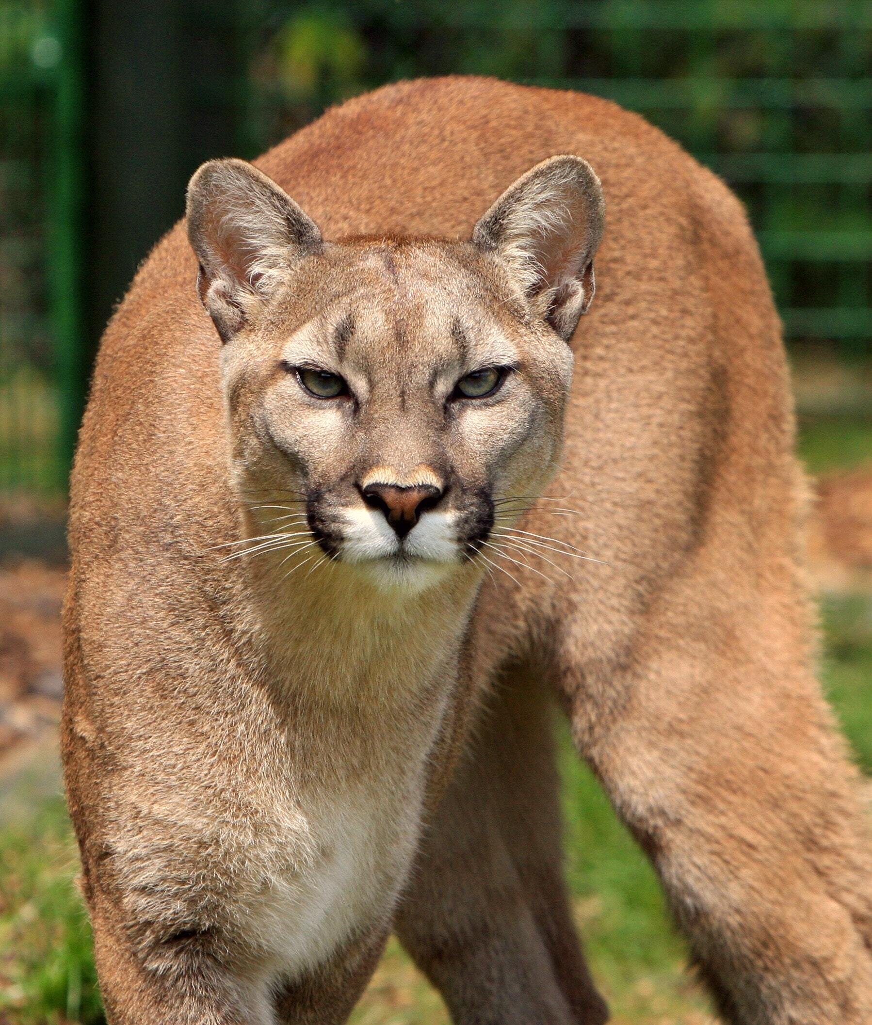
<path id="1" fill-rule="evenodd" d="M 870 355 L 868 0 L 357 0 L 265 3 L 254 18 L 274 27 L 252 66 L 257 142 L 418 74 L 495 74 L 615 99 L 743 198 L 788 337 Z"/>

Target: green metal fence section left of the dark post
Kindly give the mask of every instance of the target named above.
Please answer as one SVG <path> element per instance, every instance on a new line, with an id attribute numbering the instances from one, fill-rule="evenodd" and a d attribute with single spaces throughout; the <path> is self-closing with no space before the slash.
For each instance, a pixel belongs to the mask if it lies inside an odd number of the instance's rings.
<path id="1" fill-rule="evenodd" d="M 0 489 L 57 491 L 83 366 L 84 102 L 72 3 L 0 5 Z"/>

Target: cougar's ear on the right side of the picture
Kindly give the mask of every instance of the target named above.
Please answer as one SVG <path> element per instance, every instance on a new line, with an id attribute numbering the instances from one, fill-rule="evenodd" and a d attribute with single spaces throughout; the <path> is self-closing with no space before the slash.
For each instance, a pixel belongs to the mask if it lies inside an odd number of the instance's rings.
<path id="1" fill-rule="evenodd" d="M 475 224 L 472 241 L 509 264 L 520 288 L 569 341 L 593 298 L 605 217 L 590 164 L 551 157 L 509 186 Z"/>

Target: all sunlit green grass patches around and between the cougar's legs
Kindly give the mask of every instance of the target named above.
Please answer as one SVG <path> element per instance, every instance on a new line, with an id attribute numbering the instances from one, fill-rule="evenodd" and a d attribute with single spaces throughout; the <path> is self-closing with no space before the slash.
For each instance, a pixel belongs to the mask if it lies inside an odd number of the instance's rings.
<path id="1" fill-rule="evenodd" d="M 844 425 L 842 425 L 842 428 Z M 859 439 L 859 440 L 856 440 Z M 872 452 L 872 427 L 806 425 L 815 470 Z M 858 761 L 872 773 L 872 597 L 824 604 L 825 682 Z M 623 1025 L 705 1025 L 713 1018 L 686 974 L 686 951 L 654 873 L 564 738 L 568 873 L 597 983 Z M 88 927 L 71 877 L 75 851 L 59 798 L 0 829 L 0 1025 L 102 1020 Z M 447 1025 L 439 997 L 396 943 L 355 1025 Z"/>

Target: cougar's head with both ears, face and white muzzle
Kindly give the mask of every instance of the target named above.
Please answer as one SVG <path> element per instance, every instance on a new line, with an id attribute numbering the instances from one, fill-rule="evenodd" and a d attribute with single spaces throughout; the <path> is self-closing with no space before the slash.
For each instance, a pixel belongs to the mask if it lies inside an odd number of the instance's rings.
<path id="1" fill-rule="evenodd" d="M 273 521 L 291 563 L 323 554 L 386 586 L 485 561 L 495 522 L 555 469 L 603 224 L 573 156 L 528 171 L 459 242 L 326 242 L 250 164 L 204 164 L 188 231 L 254 533 Z"/>

